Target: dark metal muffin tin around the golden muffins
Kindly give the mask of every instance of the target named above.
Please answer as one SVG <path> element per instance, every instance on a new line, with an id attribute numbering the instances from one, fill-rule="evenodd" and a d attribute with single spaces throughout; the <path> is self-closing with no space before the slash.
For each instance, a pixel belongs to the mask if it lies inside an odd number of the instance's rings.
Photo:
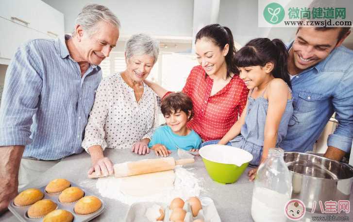
<path id="1" fill-rule="evenodd" d="M 105 203 L 103 202 L 103 200 L 101 198 L 97 197 L 95 194 L 93 194 L 91 192 L 87 192 L 84 188 L 78 186 L 77 184 L 71 183 L 70 187 L 81 188 L 84 191 L 84 196 L 96 196 L 98 199 L 101 200 L 101 203 L 102 203 L 101 208 L 99 210 L 97 210 L 96 212 L 94 212 L 94 213 L 87 214 L 87 215 L 76 214 L 73 208 L 74 208 L 74 206 L 75 206 L 75 204 L 77 202 L 72 203 L 72 204 L 60 203 L 60 201 L 59 201 L 59 195 L 60 194 L 47 193 L 45 191 L 45 187 L 46 186 L 38 188 L 40 191 L 42 191 L 44 193 L 43 199 L 49 199 L 49 200 L 53 201 L 57 205 L 57 209 L 64 209 L 64 210 L 67 210 L 68 212 L 72 213 L 72 215 L 73 215 L 73 221 L 72 222 L 87 222 L 87 221 L 90 221 L 93 218 L 95 218 L 98 215 L 100 215 L 105 209 Z M 32 219 L 32 218 L 29 218 L 27 216 L 27 210 L 30 208 L 30 206 L 31 205 L 28 205 L 28 206 L 16 206 L 14 204 L 14 200 L 12 200 L 11 203 L 9 204 L 8 208 L 18 218 L 18 220 L 20 220 L 21 222 L 42 222 L 43 218 Z"/>

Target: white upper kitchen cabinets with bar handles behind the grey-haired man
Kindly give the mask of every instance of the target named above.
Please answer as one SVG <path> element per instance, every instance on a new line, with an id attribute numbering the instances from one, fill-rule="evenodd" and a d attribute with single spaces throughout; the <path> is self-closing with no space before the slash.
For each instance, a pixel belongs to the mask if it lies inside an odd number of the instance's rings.
<path id="1" fill-rule="evenodd" d="M 20 44 L 64 36 L 64 15 L 41 0 L 1 0 L 0 33 L 0 64 L 8 64 Z"/>

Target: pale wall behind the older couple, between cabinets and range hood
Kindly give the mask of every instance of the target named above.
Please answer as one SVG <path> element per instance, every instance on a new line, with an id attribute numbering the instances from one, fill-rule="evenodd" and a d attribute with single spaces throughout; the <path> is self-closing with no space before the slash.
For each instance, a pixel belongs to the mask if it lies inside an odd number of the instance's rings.
<path id="1" fill-rule="evenodd" d="M 65 31 L 71 33 L 74 21 L 87 3 L 111 9 L 122 26 L 120 34 L 192 35 L 193 0 L 43 0 L 64 13 Z"/>

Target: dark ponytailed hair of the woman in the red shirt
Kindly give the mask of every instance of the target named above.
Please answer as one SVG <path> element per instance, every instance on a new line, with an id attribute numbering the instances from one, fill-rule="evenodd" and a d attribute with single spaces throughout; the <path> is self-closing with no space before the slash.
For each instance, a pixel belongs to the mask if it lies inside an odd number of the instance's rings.
<path id="1" fill-rule="evenodd" d="M 221 26 L 219 24 L 211 24 L 203 27 L 195 37 L 195 44 L 197 40 L 202 39 L 203 37 L 211 40 L 220 50 L 224 49 L 226 44 L 229 45 L 228 54 L 225 56 L 225 62 L 227 64 L 227 78 L 231 77 L 231 72 L 234 74 L 239 74 L 239 70 L 234 64 L 234 40 L 233 34 L 228 27 Z"/>

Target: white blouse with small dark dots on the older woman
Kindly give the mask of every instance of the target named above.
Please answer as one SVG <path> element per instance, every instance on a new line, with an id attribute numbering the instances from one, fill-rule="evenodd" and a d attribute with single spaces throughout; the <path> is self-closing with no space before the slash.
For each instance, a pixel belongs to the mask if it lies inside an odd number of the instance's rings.
<path id="1" fill-rule="evenodd" d="M 103 150 L 127 149 L 134 142 L 152 137 L 158 126 L 157 98 L 149 86 L 143 87 L 143 95 L 136 102 L 134 89 L 120 73 L 101 81 L 85 128 L 84 150 L 93 145 L 100 145 Z"/>

